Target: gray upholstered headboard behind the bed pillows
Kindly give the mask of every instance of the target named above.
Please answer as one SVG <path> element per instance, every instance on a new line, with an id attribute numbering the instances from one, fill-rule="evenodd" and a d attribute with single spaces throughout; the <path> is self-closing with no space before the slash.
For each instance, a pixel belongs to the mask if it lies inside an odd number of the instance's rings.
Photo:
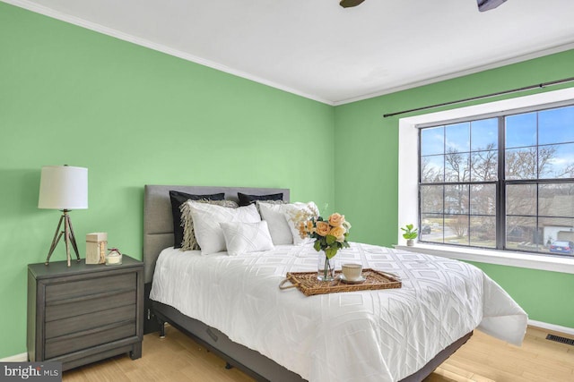
<path id="1" fill-rule="evenodd" d="M 156 186 L 146 185 L 143 197 L 143 262 L 145 283 L 151 283 L 155 261 L 161 250 L 173 246 L 173 220 L 171 216 L 170 191 L 205 195 L 225 192 L 225 199 L 238 201 L 237 193 L 265 195 L 283 192 L 283 200 L 289 201 L 289 189 L 262 189 L 248 187 L 210 186 Z"/>

